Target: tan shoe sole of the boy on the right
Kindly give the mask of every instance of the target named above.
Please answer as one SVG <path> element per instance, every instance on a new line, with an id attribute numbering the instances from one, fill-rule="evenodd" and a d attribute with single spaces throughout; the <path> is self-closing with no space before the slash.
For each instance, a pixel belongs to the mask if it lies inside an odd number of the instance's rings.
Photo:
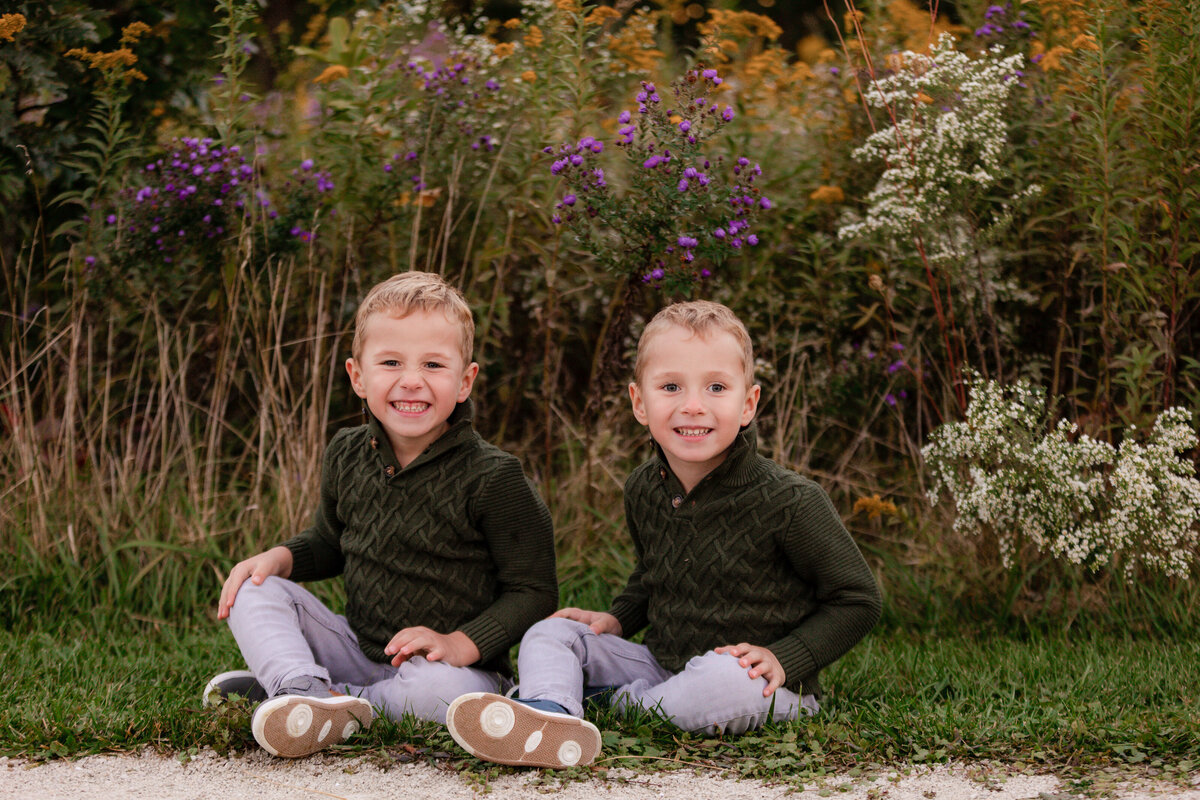
<path id="1" fill-rule="evenodd" d="M 510 766 L 584 766 L 600 753 L 600 730 L 587 720 L 490 692 L 456 698 L 446 709 L 446 728 L 475 758 Z"/>

